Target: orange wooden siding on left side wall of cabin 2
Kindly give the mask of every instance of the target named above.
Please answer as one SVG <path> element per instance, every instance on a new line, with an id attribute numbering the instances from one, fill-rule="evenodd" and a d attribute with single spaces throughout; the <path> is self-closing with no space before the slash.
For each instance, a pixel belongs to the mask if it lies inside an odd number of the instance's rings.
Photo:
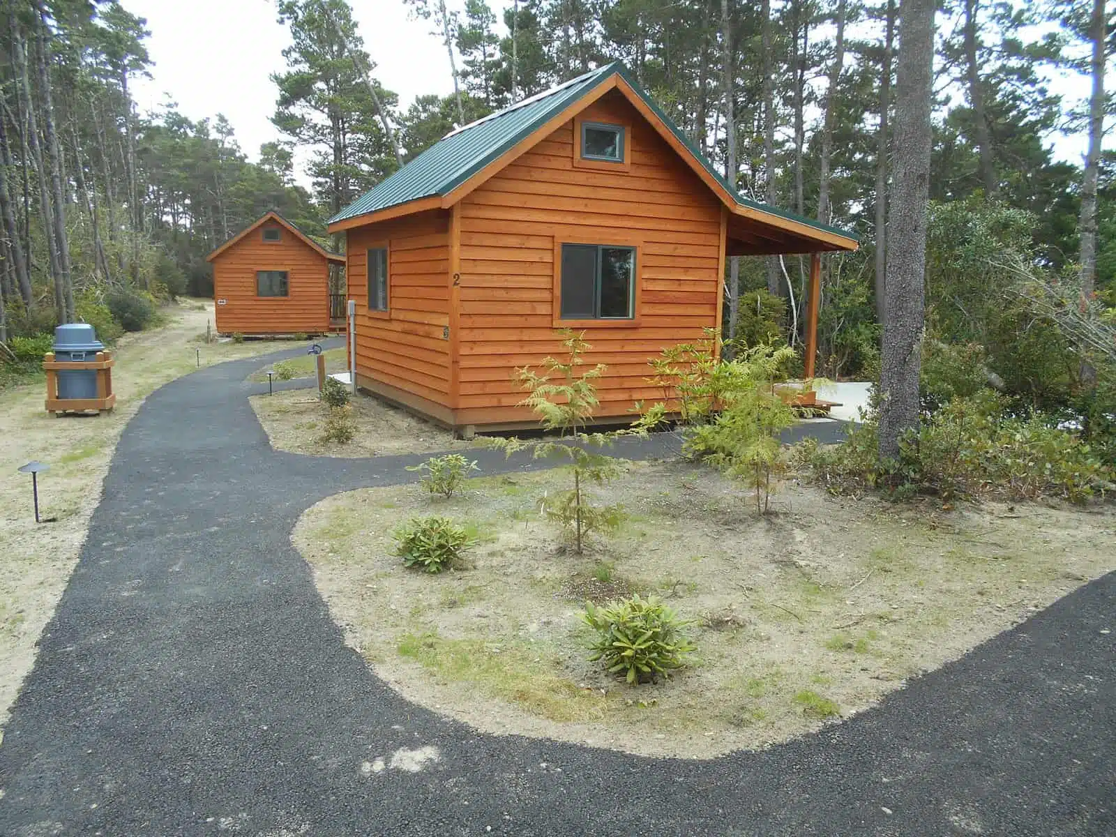
<path id="1" fill-rule="evenodd" d="M 368 310 L 368 249 L 387 248 L 387 310 Z M 442 210 L 347 232 L 356 302 L 357 384 L 453 423 L 450 413 L 450 213 Z"/>

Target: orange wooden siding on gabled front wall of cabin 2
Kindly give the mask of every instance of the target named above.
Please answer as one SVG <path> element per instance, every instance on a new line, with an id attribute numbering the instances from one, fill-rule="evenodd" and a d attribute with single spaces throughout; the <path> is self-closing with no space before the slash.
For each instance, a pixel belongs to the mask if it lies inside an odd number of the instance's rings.
<path id="1" fill-rule="evenodd" d="M 576 161 L 580 121 L 624 125 L 629 165 Z M 631 415 L 636 401 L 661 400 L 662 388 L 647 383 L 648 359 L 701 339 L 718 323 L 721 202 L 619 94 L 607 94 L 555 131 L 456 211 L 458 425 L 536 420 L 516 406 L 526 393 L 513 375 L 564 350 L 556 336 L 562 327 L 556 299 L 562 242 L 637 248 L 635 320 L 574 326 L 591 346 L 585 368 L 607 365 L 597 417 Z"/>

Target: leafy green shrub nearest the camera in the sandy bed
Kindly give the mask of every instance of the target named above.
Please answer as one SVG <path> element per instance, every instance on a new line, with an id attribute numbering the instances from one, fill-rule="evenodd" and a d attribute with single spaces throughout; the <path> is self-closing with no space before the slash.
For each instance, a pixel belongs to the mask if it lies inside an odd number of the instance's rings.
<path id="1" fill-rule="evenodd" d="M 686 633 L 691 623 L 655 596 L 636 595 L 603 607 L 587 602 L 581 620 L 597 634 L 589 660 L 603 661 L 609 674 L 628 683 L 667 677 L 696 651 Z"/>

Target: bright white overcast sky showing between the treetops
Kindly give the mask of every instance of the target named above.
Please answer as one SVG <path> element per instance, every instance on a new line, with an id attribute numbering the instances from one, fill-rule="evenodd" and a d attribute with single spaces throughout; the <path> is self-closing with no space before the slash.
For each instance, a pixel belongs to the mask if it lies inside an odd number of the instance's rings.
<path id="1" fill-rule="evenodd" d="M 261 143 L 278 140 L 271 124 L 276 87 L 272 73 L 286 68 L 287 27 L 278 22 L 273 0 L 122 0 L 147 19 L 152 78 L 136 79 L 142 113 L 157 109 L 165 95 L 191 119 L 224 114 L 240 147 L 256 160 Z M 401 0 L 350 0 L 365 48 L 376 61 L 376 78 L 400 96 L 405 108 L 425 93 L 453 89 L 449 61 L 429 21 L 410 20 Z M 463 4 L 463 3 L 462 3 Z M 501 10 L 510 0 L 490 0 Z M 1062 77 L 1054 92 L 1076 98 L 1087 94 L 1084 79 Z M 1057 156 L 1080 164 L 1084 137 L 1057 137 Z M 306 182 L 301 172 L 297 173 Z"/>

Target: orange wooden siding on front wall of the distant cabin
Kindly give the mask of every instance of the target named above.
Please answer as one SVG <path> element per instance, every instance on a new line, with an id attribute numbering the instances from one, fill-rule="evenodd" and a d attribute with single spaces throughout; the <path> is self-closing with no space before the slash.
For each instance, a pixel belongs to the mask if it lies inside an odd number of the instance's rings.
<path id="1" fill-rule="evenodd" d="M 267 229 L 279 230 L 279 241 L 264 241 Z M 258 270 L 286 270 L 288 296 L 257 296 Z M 213 300 L 223 334 L 328 331 L 329 261 L 279 224 L 262 224 L 213 259 Z"/>

